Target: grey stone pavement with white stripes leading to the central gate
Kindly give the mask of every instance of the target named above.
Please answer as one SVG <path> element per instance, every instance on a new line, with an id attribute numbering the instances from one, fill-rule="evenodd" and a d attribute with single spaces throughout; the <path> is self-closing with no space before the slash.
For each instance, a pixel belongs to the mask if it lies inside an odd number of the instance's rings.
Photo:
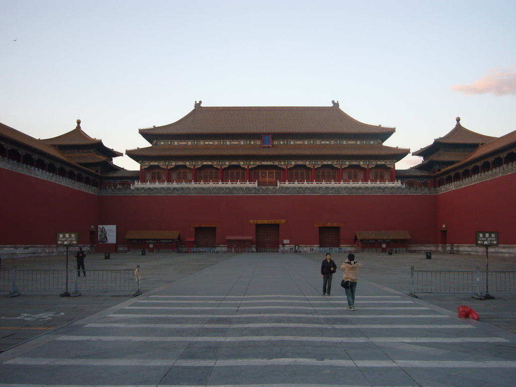
<path id="1" fill-rule="evenodd" d="M 61 328 L 0 353 L 0 387 L 514 385 L 516 335 L 385 286 L 407 286 L 398 265 L 408 261 L 460 265 L 461 256 L 357 254 L 365 266 L 350 312 L 338 276 L 332 296 L 321 296 L 321 256 L 114 255 L 92 254 L 87 268 L 139 260 L 143 295 L 54 295 L 41 309 L 50 296 L 3 298 L 3 317 L 64 314 L 41 324 Z M 2 319 L 12 322 L 38 321 Z"/>

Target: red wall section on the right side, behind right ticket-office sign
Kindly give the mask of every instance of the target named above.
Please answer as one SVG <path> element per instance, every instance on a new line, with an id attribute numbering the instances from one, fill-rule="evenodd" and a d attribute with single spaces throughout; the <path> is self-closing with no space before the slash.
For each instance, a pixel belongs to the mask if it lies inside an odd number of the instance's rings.
<path id="1" fill-rule="evenodd" d="M 475 244 L 476 231 L 498 231 L 500 245 L 516 245 L 516 173 L 438 195 L 438 228 L 446 243 Z"/>

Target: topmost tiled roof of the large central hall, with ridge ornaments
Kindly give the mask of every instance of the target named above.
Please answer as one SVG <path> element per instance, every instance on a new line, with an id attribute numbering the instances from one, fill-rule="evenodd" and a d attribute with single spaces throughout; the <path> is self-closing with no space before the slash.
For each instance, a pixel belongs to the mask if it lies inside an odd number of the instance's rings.
<path id="1" fill-rule="evenodd" d="M 140 129 L 146 135 L 334 133 L 381 134 L 395 128 L 369 125 L 332 107 L 196 107 L 174 123 Z M 386 135 L 386 137 L 385 137 Z M 147 137 L 146 137 L 147 138 Z"/>

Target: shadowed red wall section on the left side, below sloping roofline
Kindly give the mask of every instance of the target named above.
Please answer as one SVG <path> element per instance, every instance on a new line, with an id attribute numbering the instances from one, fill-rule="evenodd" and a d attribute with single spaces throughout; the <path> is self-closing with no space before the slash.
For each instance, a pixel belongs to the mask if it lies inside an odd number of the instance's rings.
<path id="1" fill-rule="evenodd" d="M 0 168 L 0 245 L 55 245 L 56 233 L 90 244 L 99 196 Z"/>

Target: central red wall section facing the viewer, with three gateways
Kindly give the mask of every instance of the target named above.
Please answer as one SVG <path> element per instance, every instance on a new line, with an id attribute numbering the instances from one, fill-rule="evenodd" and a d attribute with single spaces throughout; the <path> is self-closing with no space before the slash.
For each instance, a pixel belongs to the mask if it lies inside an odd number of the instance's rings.
<path id="1" fill-rule="evenodd" d="M 344 223 L 341 244 L 356 231 L 407 230 L 410 244 L 436 244 L 436 195 L 103 196 L 101 224 L 117 224 L 117 242 L 128 230 L 179 231 L 193 238 L 191 224 L 217 223 L 217 244 L 226 236 L 255 236 L 250 219 L 286 220 L 280 241 L 318 245 L 316 223 Z"/>

